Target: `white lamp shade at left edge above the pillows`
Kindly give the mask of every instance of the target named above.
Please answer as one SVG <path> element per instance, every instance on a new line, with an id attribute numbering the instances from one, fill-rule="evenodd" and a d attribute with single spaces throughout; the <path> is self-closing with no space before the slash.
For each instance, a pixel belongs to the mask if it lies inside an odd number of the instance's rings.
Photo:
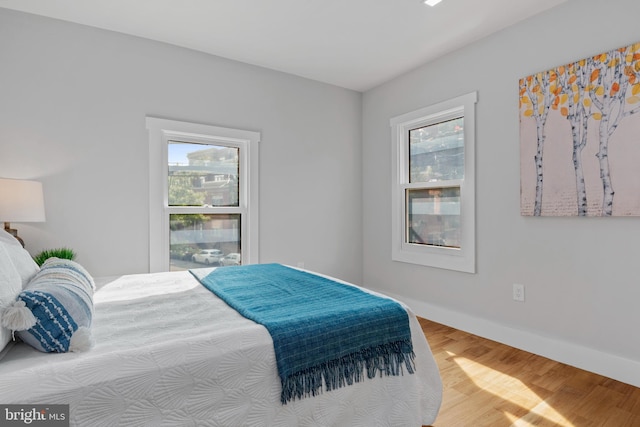
<path id="1" fill-rule="evenodd" d="M 43 222 L 42 183 L 0 178 L 0 221 Z"/>

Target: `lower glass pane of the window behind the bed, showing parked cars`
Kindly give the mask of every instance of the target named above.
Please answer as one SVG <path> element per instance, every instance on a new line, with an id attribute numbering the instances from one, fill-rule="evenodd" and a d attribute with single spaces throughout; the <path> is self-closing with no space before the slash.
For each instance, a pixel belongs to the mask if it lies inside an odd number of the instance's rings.
<path id="1" fill-rule="evenodd" d="M 171 214 L 172 271 L 239 265 L 240 214 Z"/>

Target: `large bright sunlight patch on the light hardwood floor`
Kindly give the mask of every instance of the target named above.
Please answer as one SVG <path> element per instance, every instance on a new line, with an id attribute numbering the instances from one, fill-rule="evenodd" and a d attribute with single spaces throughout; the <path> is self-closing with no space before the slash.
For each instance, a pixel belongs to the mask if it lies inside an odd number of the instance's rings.
<path id="1" fill-rule="evenodd" d="M 451 354 L 451 356 L 454 355 Z M 543 418 L 546 422 L 552 422 L 558 426 L 575 427 L 517 378 L 465 357 L 454 356 L 453 360 L 472 379 L 477 387 L 529 411 L 524 416 L 517 416 L 505 411 L 505 416 L 513 426 L 529 427 L 538 425 L 540 418 Z"/>

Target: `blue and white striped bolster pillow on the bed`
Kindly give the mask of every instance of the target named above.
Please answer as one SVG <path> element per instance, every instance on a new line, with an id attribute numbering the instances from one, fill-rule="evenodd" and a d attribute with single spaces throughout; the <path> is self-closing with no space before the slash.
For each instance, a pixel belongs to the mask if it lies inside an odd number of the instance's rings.
<path id="1" fill-rule="evenodd" d="M 49 258 L 15 304 L 24 304 L 35 317 L 35 324 L 15 334 L 43 352 L 88 350 L 93 345 L 90 327 L 94 289 L 93 278 L 80 264 Z"/>

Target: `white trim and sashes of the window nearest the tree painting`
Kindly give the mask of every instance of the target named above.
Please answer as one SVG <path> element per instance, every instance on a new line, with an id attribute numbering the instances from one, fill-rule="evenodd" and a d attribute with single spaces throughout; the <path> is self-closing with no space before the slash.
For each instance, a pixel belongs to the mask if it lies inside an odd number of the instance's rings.
<path id="1" fill-rule="evenodd" d="M 412 111 L 390 120 L 392 129 L 392 251 L 394 261 L 420 264 L 467 273 L 476 272 L 475 244 L 475 104 L 477 92 Z M 455 115 L 464 116 L 464 180 L 443 181 L 435 187 L 460 185 L 460 249 L 405 242 L 405 189 L 409 183 L 409 131 L 435 124 Z M 429 184 L 420 183 L 419 188 Z"/>

